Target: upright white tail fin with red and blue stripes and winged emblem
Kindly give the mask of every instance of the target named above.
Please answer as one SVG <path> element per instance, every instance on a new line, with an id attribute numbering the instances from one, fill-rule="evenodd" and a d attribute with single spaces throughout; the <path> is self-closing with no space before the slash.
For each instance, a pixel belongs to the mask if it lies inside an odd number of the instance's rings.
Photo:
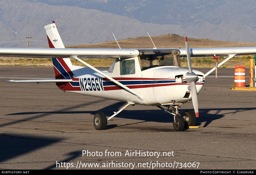
<path id="1" fill-rule="evenodd" d="M 46 25 L 45 30 L 50 48 L 65 48 L 54 21 L 52 21 L 52 24 Z M 70 79 L 73 77 L 71 72 L 72 63 L 69 58 L 52 58 L 52 63 L 56 79 Z"/>

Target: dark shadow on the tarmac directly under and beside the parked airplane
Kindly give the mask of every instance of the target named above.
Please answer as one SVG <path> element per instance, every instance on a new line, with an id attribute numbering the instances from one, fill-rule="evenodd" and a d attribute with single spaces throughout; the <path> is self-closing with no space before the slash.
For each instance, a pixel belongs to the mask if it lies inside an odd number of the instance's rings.
<path id="1" fill-rule="evenodd" d="M 104 112 L 106 114 L 106 116 L 108 117 L 113 114 L 113 111 L 118 111 L 118 109 L 121 109 L 121 107 L 123 107 L 125 104 L 126 103 L 124 103 L 124 102 L 113 103 L 113 104 L 106 106 L 98 111 Z M 79 107 L 79 106 L 83 107 L 85 105 L 88 105 L 88 103 L 76 105 L 76 107 Z M 173 115 L 170 115 L 170 114 L 166 113 L 165 111 L 158 109 L 157 107 L 154 107 L 152 110 L 132 110 L 133 106 L 129 106 L 129 107 L 131 107 L 130 110 L 124 110 L 121 113 L 119 113 L 118 115 L 116 115 L 114 118 L 144 120 L 142 122 L 163 122 L 163 123 L 172 123 L 173 122 Z M 67 107 L 66 109 L 64 108 L 61 110 L 50 111 L 50 112 L 21 112 L 21 113 L 7 114 L 7 115 L 31 115 L 31 114 L 39 114 L 39 115 L 31 116 L 31 117 L 25 118 L 23 120 L 17 120 L 17 121 L 5 123 L 5 124 L 0 125 L 0 127 L 10 125 L 10 124 L 24 122 L 26 120 L 32 120 L 32 119 L 48 116 L 51 114 L 86 114 L 86 113 L 88 113 L 88 114 L 94 115 L 97 112 L 97 111 L 70 111 L 70 109 L 72 109 L 72 108 Z M 250 107 L 248 107 L 248 108 L 240 107 L 239 109 L 236 109 L 236 108 L 199 109 L 200 116 L 199 116 L 199 118 L 197 118 L 196 126 L 201 126 L 202 125 L 201 123 L 205 122 L 204 126 L 202 126 L 202 127 L 206 127 L 213 120 L 220 119 L 220 118 L 224 117 L 226 114 L 236 114 L 236 113 L 249 111 L 249 110 L 255 110 L 255 109 L 256 108 L 252 108 L 252 107 L 251 108 Z M 191 110 L 193 110 L 193 109 L 191 109 Z M 186 111 L 186 109 L 179 110 L 180 114 L 184 114 L 185 111 Z M 213 111 L 215 112 L 215 114 L 212 114 Z M 222 114 L 219 114 L 221 111 L 222 111 Z M 226 113 L 223 114 L 223 111 L 226 111 Z M 114 118 L 111 120 L 114 120 Z M 142 123 L 142 122 L 136 122 L 136 123 Z M 136 123 L 133 123 L 133 124 L 136 124 Z M 127 125 L 131 125 L 131 124 L 127 124 Z M 114 125 L 114 124 L 107 125 L 106 129 L 111 129 L 116 126 L 117 125 Z"/>

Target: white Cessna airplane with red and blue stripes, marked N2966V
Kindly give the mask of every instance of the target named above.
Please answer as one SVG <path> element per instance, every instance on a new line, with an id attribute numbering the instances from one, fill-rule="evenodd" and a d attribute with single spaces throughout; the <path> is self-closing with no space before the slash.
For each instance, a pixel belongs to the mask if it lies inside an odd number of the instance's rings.
<path id="1" fill-rule="evenodd" d="M 174 116 L 173 127 L 182 131 L 194 126 L 198 117 L 197 94 L 206 74 L 192 70 L 191 57 L 228 56 L 218 66 L 236 55 L 256 54 L 256 47 L 186 49 L 70 49 L 65 48 L 55 22 L 45 26 L 50 48 L 0 48 L 0 56 L 52 58 L 55 78 L 44 80 L 9 80 L 8 82 L 54 82 L 63 91 L 127 102 L 118 112 L 106 118 L 94 115 L 95 129 L 105 129 L 108 120 L 129 105 L 157 106 Z M 189 69 L 180 67 L 180 57 L 187 57 Z M 86 67 L 72 65 L 73 58 Z M 115 58 L 108 71 L 95 69 L 80 58 Z M 193 100 L 194 111 L 180 115 L 179 105 Z M 171 107 L 167 110 L 165 107 Z"/>

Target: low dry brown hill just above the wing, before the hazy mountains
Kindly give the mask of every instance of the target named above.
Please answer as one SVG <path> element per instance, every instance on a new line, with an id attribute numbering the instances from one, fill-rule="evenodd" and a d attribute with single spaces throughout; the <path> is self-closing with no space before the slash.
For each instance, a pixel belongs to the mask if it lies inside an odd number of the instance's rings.
<path id="1" fill-rule="evenodd" d="M 157 48 L 185 48 L 185 37 L 176 34 L 168 34 L 151 37 Z M 190 48 L 204 47 L 255 47 L 256 43 L 237 43 L 228 41 L 214 41 L 209 39 L 188 38 Z M 150 37 L 127 38 L 118 40 L 121 48 L 153 48 Z M 116 41 L 99 44 L 83 44 L 67 46 L 67 48 L 119 48 Z"/>

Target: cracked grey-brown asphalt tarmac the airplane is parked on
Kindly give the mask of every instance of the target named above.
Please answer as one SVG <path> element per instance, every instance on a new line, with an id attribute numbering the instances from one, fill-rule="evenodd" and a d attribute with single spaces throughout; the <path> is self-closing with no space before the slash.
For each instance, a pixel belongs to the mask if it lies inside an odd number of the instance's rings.
<path id="1" fill-rule="evenodd" d="M 198 94 L 199 128 L 175 132 L 173 116 L 135 105 L 95 130 L 97 111 L 111 116 L 125 103 L 64 93 L 54 83 L 4 82 L 54 78 L 54 69 L 0 66 L 0 168 L 255 169 L 256 91 L 230 90 L 234 69 L 218 76 L 206 77 Z M 193 110 L 191 102 L 181 106 L 181 114 Z"/>

